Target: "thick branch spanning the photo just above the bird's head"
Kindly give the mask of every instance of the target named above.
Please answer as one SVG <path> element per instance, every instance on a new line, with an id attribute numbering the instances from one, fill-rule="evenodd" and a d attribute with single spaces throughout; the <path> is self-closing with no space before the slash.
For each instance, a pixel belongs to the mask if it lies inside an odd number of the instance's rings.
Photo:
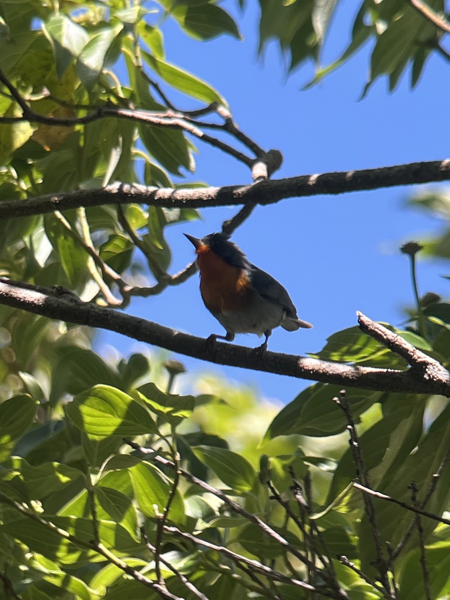
<path id="1" fill-rule="evenodd" d="M 319 194 L 344 194 L 350 191 L 376 190 L 393 185 L 423 184 L 450 180 L 450 160 L 410 163 L 379 169 L 301 175 L 289 179 L 266 179 L 253 185 L 232 185 L 199 189 L 173 190 L 140 184 L 116 182 L 98 190 L 76 190 L 47 194 L 26 200 L 0 203 L 0 219 L 40 215 L 79 206 L 128 204 L 137 202 L 168 208 L 210 208 L 254 203 L 274 204 L 292 197 Z"/>

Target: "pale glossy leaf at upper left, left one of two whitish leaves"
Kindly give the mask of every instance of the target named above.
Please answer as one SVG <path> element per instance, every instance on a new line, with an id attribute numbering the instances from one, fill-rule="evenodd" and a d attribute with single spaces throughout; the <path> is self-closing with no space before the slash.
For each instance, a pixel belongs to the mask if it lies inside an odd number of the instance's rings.
<path id="1" fill-rule="evenodd" d="M 56 73 L 61 79 L 74 58 L 79 56 L 89 41 L 86 30 L 65 14 L 52 14 L 43 25 L 43 32 L 53 45 Z"/>

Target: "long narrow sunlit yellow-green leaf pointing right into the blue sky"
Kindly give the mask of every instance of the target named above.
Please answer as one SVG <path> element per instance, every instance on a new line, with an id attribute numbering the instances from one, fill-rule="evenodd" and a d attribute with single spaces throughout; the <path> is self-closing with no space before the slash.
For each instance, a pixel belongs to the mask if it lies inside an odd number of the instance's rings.
<path id="1" fill-rule="evenodd" d="M 149 55 L 148 52 L 142 52 L 142 55 L 155 73 L 158 73 L 173 88 L 179 89 L 184 94 L 206 103 L 218 102 L 226 104 L 224 98 L 214 88 L 198 77 L 187 73 L 187 71 L 183 71 L 179 67 L 175 67 L 175 65 L 171 65 L 169 62 L 155 58 L 155 56 Z"/>

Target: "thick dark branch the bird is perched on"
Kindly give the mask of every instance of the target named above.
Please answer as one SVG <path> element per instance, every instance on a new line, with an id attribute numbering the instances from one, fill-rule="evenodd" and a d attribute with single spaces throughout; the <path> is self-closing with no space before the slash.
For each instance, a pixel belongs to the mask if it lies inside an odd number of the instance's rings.
<path id="1" fill-rule="evenodd" d="M 59 296 L 55 293 L 59 293 Z M 299 379 L 337 383 L 343 387 L 414 394 L 442 394 L 450 397 L 450 375 L 443 368 L 440 372 L 431 372 L 430 376 L 425 378 L 414 369 L 397 371 L 342 365 L 275 352 L 266 352 L 260 357 L 252 349 L 235 344 L 217 343 L 215 351 L 211 352 L 206 346 L 206 340 L 202 338 L 182 334 L 139 317 L 82 302 L 70 294 L 61 295 L 61 289 L 40 293 L 0 280 L 0 304 L 22 308 L 49 319 L 108 329 L 134 340 L 217 364 L 267 371 Z"/>

